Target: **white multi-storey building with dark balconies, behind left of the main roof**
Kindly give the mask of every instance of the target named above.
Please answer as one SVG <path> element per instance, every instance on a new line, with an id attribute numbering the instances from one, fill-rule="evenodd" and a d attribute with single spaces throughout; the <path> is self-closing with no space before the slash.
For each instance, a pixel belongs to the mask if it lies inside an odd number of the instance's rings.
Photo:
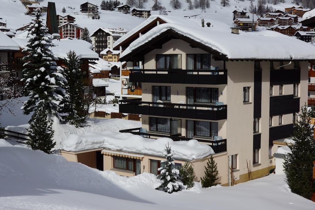
<path id="1" fill-rule="evenodd" d="M 98 28 L 91 35 L 94 51 L 100 55 L 106 48 L 112 48 L 113 44 L 127 32 L 121 28 Z"/>

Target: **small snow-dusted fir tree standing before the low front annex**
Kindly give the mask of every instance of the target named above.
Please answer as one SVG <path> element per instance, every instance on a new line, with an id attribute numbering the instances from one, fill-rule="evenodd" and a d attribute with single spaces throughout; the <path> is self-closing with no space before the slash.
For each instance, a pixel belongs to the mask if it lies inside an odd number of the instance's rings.
<path id="1" fill-rule="evenodd" d="M 183 183 L 178 180 L 179 170 L 173 168 L 175 163 L 171 147 L 167 145 L 165 151 L 166 161 L 161 161 L 161 163 L 163 163 L 163 167 L 158 168 L 160 174 L 157 176 L 157 179 L 163 181 L 163 183 L 155 189 L 162 189 L 164 192 L 173 193 L 180 191 Z"/>

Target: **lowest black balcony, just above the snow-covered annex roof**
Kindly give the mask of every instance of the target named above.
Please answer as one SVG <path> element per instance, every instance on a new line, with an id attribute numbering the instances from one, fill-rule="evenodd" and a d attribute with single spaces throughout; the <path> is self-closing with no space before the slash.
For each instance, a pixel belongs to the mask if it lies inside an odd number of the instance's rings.
<path id="1" fill-rule="evenodd" d="M 132 133 L 134 135 L 144 135 L 146 138 L 156 137 L 156 138 L 163 138 L 168 137 L 170 139 L 173 139 L 173 141 L 189 141 L 191 138 L 186 138 L 184 136 L 169 136 L 169 135 L 162 135 L 162 134 L 156 134 L 156 133 L 141 133 L 140 128 L 132 128 L 132 129 L 126 129 L 126 130 L 120 130 L 120 133 Z M 208 144 L 215 153 L 220 152 L 226 152 L 226 139 L 222 140 L 208 140 L 208 139 L 198 139 L 194 138 L 199 142 L 204 142 Z"/>

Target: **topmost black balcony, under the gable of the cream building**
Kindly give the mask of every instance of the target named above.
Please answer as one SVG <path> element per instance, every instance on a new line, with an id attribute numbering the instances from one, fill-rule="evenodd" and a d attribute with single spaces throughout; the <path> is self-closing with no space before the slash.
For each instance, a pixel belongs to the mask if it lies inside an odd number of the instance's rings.
<path id="1" fill-rule="evenodd" d="M 227 70 L 130 69 L 129 71 L 130 82 L 227 84 Z"/>

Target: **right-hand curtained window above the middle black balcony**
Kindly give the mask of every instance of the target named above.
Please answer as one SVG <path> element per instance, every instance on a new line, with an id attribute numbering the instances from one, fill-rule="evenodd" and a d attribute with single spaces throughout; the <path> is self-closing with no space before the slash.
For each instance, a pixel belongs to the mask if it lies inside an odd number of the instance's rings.
<path id="1" fill-rule="evenodd" d="M 219 88 L 186 88 L 187 104 L 215 103 L 219 100 Z"/>

